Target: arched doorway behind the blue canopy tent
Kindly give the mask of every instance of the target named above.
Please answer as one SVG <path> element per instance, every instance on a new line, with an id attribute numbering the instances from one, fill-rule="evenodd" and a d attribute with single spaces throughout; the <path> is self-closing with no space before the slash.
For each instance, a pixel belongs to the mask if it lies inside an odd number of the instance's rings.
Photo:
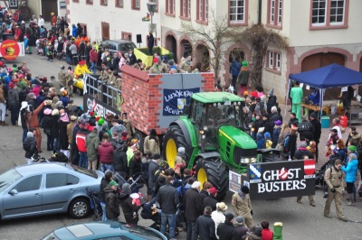
<path id="1" fill-rule="evenodd" d="M 339 65 L 345 66 L 346 57 L 343 54 L 337 52 L 328 52 L 323 53 L 319 52 L 313 55 L 310 55 L 304 60 L 301 61 L 301 71 L 309 71 L 312 69 L 319 69 L 320 67 L 327 66 L 332 63 L 337 63 Z M 310 95 L 310 90 L 303 88 L 304 96 Z M 340 94 L 340 88 L 329 88 L 326 89 L 324 96 L 325 100 L 335 100 L 336 96 Z"/>

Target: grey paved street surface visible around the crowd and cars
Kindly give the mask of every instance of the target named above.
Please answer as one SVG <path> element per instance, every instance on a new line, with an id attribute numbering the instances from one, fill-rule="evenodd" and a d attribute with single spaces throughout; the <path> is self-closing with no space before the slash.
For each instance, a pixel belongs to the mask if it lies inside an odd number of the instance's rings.
<path id="1" fill-rule="evenodd" d="M 56 76 L 59 66 L 64 63 L 56 60 L 49 62 L 44 57 L 36 55 L 27 55 L 19 59 L 17 63 L 19 64 L 23 60 L 28 63 L 33 76 L 41 75 L 48 79 L 51 75 Z M 81 98 L 76 98 L 76 102 L 81 103 Z M 284 116 L 284 119 L 287 118 L 289 117 Z M 357 131 L 362 133 L 362 127 L 357 127 Z M 0 126 L 0 172 L 25 163 L 21 135 L 22 129 L 19 126 Z M 327 135 L 328 130 L 324 129 L 320 143 L 327 140 Z M 347 134 L 345 134 L 346 137 Z M 44 140 L 45 138 L 43 138 L 43 146 L 45 146 Z M 43 156 L 50 157 L 50 152 L 44 152 Z M 322 157 L 322 153 L 320 157 Z M 323 162 L 325 162 L 325 158 L 321 158 L 319 165 Z M 233 211 L 230 204 L 231 196 L 232 194 L 229 192 L 224 199 L 224 202 L 229 206 L 227 212 Z M 301 205 L 296 203 L 295 198 L 252 200 L 254 221 L 260 223 L 267 219 L 271 224 L 282 222 L 284 224 L 284 239 L 362 239 L 362 199 L 357 198 L 357 204 L 354 207 L 343 204 L 345 215 L 351 220 L 344 223 L 338 220 L 333 205 L 331 216 L 334 218 L 323 217 L 325 199 L 322 196 L 322 191 L 318 189 L 315 196 L 317 204 L 315 208 L 309 205 L 308 198 L 303 198 Z M 0 239 L 39 239 L 57 227 L 88 221 L 91 221 L 91 217 L 75 220 L 65 214 L 2 221 L 0 223 Z M 139 224 L 149 226 L 151 222 L 142 219 Z M 186 239 L 185 233 L 181 233 L 177 239 Z"/>

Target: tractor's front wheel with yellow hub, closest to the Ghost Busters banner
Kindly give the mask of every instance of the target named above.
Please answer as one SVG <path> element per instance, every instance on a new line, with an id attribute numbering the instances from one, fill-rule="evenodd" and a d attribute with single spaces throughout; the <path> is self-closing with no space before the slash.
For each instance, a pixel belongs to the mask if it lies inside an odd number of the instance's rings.
<path id="1" fill-rule="evenodd" d="M 219 202 L 225 198 L 229 182 L 224 162 L 215 158 L 198 159 L 196 162 L 196 174 L 196 179 L 201 184 L 208 181 L 218 190 L 216 198 Z"/>

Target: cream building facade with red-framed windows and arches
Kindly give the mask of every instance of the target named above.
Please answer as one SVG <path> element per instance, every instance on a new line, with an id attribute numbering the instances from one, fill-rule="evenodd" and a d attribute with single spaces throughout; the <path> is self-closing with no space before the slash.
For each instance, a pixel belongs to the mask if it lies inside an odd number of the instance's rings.
<path id="1" fill-rule="evenodd" d="M 70 23 L 87 25 L 90 38 L 101 40 L 130 39 L 142 34 L 141 46 L 146 46 L 148 23 L 142 22 L 147 0 L 67 0 Z M 258 5 L 259 2 L 262 5 Z M 118 6 L 119 5 L 119 6 Z M 121 6 L 120 6 L 121 5 Z M 194 62 L 205 56 L 207 42 L 183 34 L 182 23 L 202 26 L 212 31 L 209 18 L 212 13 L 226 16 L 230 27 L 245 28 L 261 22 L 279 32 L 289 42 L 287 50 L 268 49 L 262 72 L 265 90 L 274 88 L 279 99 L 287 94 L 288 76 L 310 69 L 338 63 L 362 71 L 362 32 L 358 31 L 362 16 L 359 0 L 158 0 L 158 11 L 153 17 L 157 23 L 157 43 L 175 53 L 176 61 L 192 54 Z M 136 6 L 136 8 L 135 8 Z M 107 33 L 107 27 L 109 34 Z M 252 64 L 250 46 L 244 42 L 231 42 L 223 46 L 224 61 L 219 76 L 229 79 L 229 61 L 234 52 L 242 52 L 244 60 Z M 240 56 L 240 54 L 238 55 Z M 279 88 L 276 88 L 278 86 Z M 327 97 L 336 96 L 327 92 Z"/>

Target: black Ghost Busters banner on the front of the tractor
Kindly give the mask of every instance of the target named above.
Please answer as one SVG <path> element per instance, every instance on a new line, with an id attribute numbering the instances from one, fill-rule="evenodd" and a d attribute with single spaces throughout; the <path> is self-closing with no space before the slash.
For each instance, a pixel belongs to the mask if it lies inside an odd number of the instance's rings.
<path id="1" fill-rule="evenodd" d="M 314 160 L 255 163 L 248 166 L 252 199 L 314 195 Z"/>

